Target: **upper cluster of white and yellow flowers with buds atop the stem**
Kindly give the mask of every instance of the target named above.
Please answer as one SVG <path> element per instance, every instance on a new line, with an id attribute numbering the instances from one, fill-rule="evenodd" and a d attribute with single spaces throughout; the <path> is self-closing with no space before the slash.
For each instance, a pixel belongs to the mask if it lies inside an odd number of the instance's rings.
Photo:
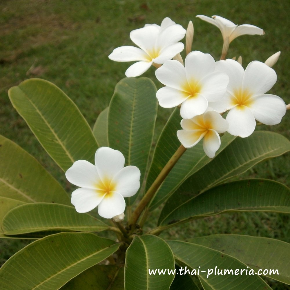
<path id="1" fill-rule="evenodd" d="M 233 59 L 225 59 L 229 43 L 240 35 L 263 35 L 261 28 L 250 25 L 236 25 L 220 16 L 198 18 L 217 26 L 224 40 L 222 57 L 215 61 L 209 54 L 200 51 L 189 52 L 193 38 L 192 22 L 186 31 L 186 58 L 173 57 L 181 52 L 183 44 L 177 42 L 184 37 L 185 30 L 170 18 L 161 26 L 145 25 L 133 30 L 131 39 L 139 48 L 122 46 L 116 48 L 109 58 L 116 61 L 139 60 L 126 71 L 126 76 L 141 75 L 151 64 L 157 66 L 156 78 L 162 84 L 156 97 L 160 106 L 180 106 L 182 130 L 177 137 L 185 148 L 195 146 L 203 139 L 203 148 L 213 158 L 220 148 L 220 133 L 228 131 L 240 137 L 253 133 L 256 120 L 263 124 L 275 125 L 286 112 L 284 101 L 266 94 L 277 80 L 271 68 L 280 55 L 277 52 L 265 63 L 252 61 L 246 68 Z M 190 37 L 189 37 L 190 35 Z M 166 52 L 166 53 L 165 53 Z M 177 55 L 178 56 L 178 55 Z M 222 114 L 227 112 L 226 118 Z"/>

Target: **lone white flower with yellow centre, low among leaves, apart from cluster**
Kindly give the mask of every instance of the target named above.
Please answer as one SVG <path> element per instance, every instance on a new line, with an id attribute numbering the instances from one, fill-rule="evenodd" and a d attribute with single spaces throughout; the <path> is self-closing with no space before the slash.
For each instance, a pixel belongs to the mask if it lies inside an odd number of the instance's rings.
<path id="1" fill-rule="evenodd" d="M 79 213 L 98 206 L 103 218 L 113 218 L 125 210 L 124 197 L 134 195 L 140 187 L 140 170 L 126 166 L 124 155 L 109 147 L 101 147 L 95 154 L 95 165 L 78 160 L 66 171 L 66 178 L 79 186 L 72 193 L 71 203 Z"/>

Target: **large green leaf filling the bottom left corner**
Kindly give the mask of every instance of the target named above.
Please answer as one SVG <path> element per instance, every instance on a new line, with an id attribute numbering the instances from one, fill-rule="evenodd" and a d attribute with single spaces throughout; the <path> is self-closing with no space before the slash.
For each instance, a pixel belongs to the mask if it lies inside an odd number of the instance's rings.
<path id="1" fill-rule="evenodd" d="M 93 233 L 58 233 L 32 242 L 0 268 L 0 288 L 59 289 L 118 249 Z"/>

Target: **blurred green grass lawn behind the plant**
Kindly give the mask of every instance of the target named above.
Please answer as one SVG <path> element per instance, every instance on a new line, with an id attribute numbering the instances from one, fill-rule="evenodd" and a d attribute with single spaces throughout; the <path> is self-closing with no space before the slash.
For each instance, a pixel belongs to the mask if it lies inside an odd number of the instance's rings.
<path id="1" fill-rule="evenodd" d="M 32 77 L 49 80 L 64 90 L 93 126 L 129 66 L 129 63 L 110 61 L 108 55 L 118 46 L 133 45 L 129 38 L 131 30 L 146 23 L 160 24 L 164 17 L 170 17 L 184 28 L 192 20 L 195 29 L 193 50 L 210 53 L 219 59 L 222 49 L 220 31 L 195 18 L 197 14 L 220 15 L 236 24 L 263 28 L 266 32 L 263 36 L 244 35 L 235 39 L 228 57 L 242 55 L 245 68 L 250 61 L 264 62 L 280 50 L 280 59 L 273 67 L 278 81 L 270 93 L 282 97 L 286 104 L 290 103 L 290 6 L 286 0 L 1 0 L 0 134 L 35 156 L 70 191 L 64 173 L 12 107 L 8 89 Z M 154 70 L 152 67 L 144 76 L 154 77 Z M 288 112 L 279 125 L 257 129 L 272 130 L 290 139 L 289 115 Z M 166 116 L 168 110 L 160 110 L 158 128 L 162 127 Z M 244 177 L 270 178 L 290 186 L 289 175 L 288 154 L 258 164 Z M 173 228 L 163 237 L 214 233 L 258 235 L 290 242 L 290 219 L 287 215 L 274 213 L 224 214 L 191 222 L 181 229 Z M 2 240 L 0 243 L 0 264 L 26 244 L 18 240 Z M 285 289 L 285 285 L 278 282 L 271 286 Z"/>

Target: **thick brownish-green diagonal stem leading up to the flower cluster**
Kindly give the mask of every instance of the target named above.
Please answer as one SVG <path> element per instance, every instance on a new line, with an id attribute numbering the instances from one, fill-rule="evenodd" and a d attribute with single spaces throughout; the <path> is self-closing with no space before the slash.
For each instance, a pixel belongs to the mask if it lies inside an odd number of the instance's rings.
<path id="1" fill-rule="evenodd" d="M 175 154 L 170 158 L 170 160 L 167 162 L 167 164 L 164 166 L 162 171 L 159 173 L 159 175 L 157 176 L 157 178 L 155 179 L 153 184 L 150 186 L 148 191 L 145 193 L 145 195 L 143 196 L 142 200 L 139 202 L 137 208 L 135 209 L 135 211 L 131 215 L 131 218 L 128 221 L 129 225 L 130 224 L 132 224 L 132 225 L 136 224 L 140 214 L 142 213 L 142 211 L 144 210 L 146 205 L 150 202 L 150 200 L 154 196 L 154 194 L 157 191 L 157 189 L 159 188 L 159 186 L 162 184 L 162 182 L 165 179 L 165 177 L 168 175 L 168 173 L 171 171 L 173 166 L 176 164 L 176 162 L 179 160 L 179 158 L 182 156 L 182 154 L 185 151 L 186 151 L 186 148 L 184 148 L 182 145 L 180 145 L 180 147 L 177 149 Z M 145 221 L 144 219 L 146 219 L 146 218 L 142 219 L 143 223 Z"/>

